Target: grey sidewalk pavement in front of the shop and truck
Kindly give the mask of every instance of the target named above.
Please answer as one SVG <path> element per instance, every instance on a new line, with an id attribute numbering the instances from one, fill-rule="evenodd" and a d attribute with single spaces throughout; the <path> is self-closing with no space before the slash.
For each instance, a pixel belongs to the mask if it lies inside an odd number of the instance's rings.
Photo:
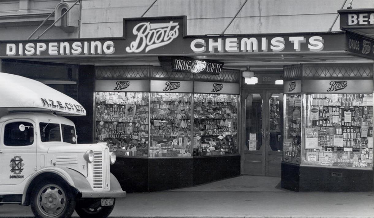
<path id="1" fill-rule="evenodd" d="M 373 192 L 293 192 L 279 183 L 279 177 L 242 175 L 183 189 L 129 193 L 116 199 L 110 217 L 374 218 Z M 0 217 L 32 216 L 30 207 L 0 206 Z"/>

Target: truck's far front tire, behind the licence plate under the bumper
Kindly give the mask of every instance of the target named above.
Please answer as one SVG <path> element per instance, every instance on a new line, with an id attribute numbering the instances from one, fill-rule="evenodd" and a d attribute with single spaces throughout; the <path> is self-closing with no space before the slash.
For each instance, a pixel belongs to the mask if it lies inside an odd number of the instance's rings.
<path id="1" fill-rule="evenodd" d="M 77 202 L 75 211 L 81 218 L 107 218 L 113 211 L 112 206 L 101 206 L 101 199 L 83 199 Z"/>

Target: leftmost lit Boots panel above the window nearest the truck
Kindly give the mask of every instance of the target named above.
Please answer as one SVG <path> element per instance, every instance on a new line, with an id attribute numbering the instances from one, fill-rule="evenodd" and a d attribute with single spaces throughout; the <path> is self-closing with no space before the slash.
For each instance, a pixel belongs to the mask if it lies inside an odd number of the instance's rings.
<path id="1" fill-rule="evenodd" d="M 95 91 L 147 92 L 148 80 L 95 80 Z"/>

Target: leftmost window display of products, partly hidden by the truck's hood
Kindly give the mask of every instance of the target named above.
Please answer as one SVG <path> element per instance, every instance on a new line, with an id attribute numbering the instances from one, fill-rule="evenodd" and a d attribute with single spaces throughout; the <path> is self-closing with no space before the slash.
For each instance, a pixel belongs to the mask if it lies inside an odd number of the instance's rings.
<path id="1" fill-rule="evenodd" d="M 117 156 L 148 156 L 149 93 L 96 92 L 95 139 Z"/>

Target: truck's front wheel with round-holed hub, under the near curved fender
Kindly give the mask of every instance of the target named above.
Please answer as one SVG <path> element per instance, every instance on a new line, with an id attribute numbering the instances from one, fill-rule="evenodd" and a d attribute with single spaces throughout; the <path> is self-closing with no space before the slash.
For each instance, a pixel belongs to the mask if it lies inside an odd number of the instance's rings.
<path id="1" fill-rule="evenodd" d="M 36 184 L 31 193 L 31 210 L 38 218 L 69 218 L 74 212 L 75 198 L 66 183 L 42 181 Z"/>

